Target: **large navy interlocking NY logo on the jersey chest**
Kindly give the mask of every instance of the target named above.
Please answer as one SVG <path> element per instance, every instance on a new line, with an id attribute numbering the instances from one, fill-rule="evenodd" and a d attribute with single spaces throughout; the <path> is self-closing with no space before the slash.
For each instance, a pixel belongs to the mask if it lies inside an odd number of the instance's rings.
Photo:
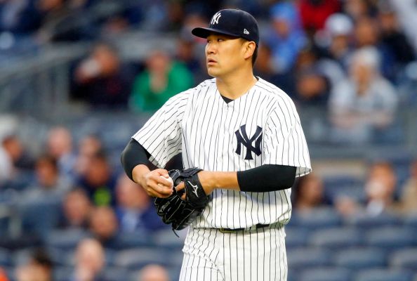
<path id="1" fill-rule="evenodd" d="M 260 143 L 262 142 L 262 128 L 260 126 L 256 126 L 256 132 L 248 138 L 246 133 L 246 124 L 241 125 L 240 129 L 234 132 L 237 138 L 237 148 L 236 153 L 240 155 L 241 153 L 241 145 L 244 145 L 246 148 L 246 156 L 245 160 L 252 160 L 252 152 L 256 155 L 260 155 Z M 252 146 L 252 143 L 255 142 L 255 146 Z"/>

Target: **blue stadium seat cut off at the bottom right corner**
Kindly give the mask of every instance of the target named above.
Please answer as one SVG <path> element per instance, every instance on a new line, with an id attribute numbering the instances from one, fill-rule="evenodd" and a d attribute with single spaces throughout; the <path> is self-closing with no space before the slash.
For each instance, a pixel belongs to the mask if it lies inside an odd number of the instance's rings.
<path id="1" fill-rule="evenodd" d="M 369 269 L 357 273 L 355 281 L 413 281 L 413 274 L 406 270 Z"/>

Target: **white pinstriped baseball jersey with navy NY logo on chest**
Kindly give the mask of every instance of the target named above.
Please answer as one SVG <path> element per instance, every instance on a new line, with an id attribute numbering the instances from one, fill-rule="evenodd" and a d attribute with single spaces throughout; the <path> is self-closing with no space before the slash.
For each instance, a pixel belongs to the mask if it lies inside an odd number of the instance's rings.
<path id="1" fill-rule="evenodd" d="M 310 155 L 298 112 L 289 96 L 258 78 L 243 96 L 226 103 L 209 79 L 168 100 L 133 136 L 164 167 L 183 152 L 185 168 L 244 171 L 263 164 L 296 166 L 310 173 Z M 277 175 L 279 177 L 279 175 Z M 246 228 L 257 223 L 287 223 L 291 188 L 274 192 L 216 189 L 201 228 Z"/>

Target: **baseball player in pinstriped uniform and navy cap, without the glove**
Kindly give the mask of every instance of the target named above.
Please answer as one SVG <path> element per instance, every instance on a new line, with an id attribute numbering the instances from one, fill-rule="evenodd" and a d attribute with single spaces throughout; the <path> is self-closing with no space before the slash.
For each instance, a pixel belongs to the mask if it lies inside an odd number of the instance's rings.
<path id="1" fill-rule="evenodd" d="M 291 185 L 311 171 L 296 107 L 253 75 L 252 15 L 221 10 L 192 34 L 207 39 L 213 79 L 173 96 L 133 135 L 124 169 L 154 197 L 173 193 L 163 167 L 179 152 L 184 168 L 203 169 L 197 176 L 209 204 L 188 230 L 180 280 L 286 280 Z M 161 168 L 150 171 L 149 161 Z"/>

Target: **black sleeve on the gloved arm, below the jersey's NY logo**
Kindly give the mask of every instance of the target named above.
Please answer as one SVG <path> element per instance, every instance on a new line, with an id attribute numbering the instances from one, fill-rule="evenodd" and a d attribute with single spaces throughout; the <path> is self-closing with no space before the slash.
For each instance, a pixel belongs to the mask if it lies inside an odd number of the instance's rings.
<path id="1" fill-rule="evenodd" d="M 263 165 L 237 172 L 241 191 L 270 192 L 291 188 L 296 179 L 295 166 Z"/>

